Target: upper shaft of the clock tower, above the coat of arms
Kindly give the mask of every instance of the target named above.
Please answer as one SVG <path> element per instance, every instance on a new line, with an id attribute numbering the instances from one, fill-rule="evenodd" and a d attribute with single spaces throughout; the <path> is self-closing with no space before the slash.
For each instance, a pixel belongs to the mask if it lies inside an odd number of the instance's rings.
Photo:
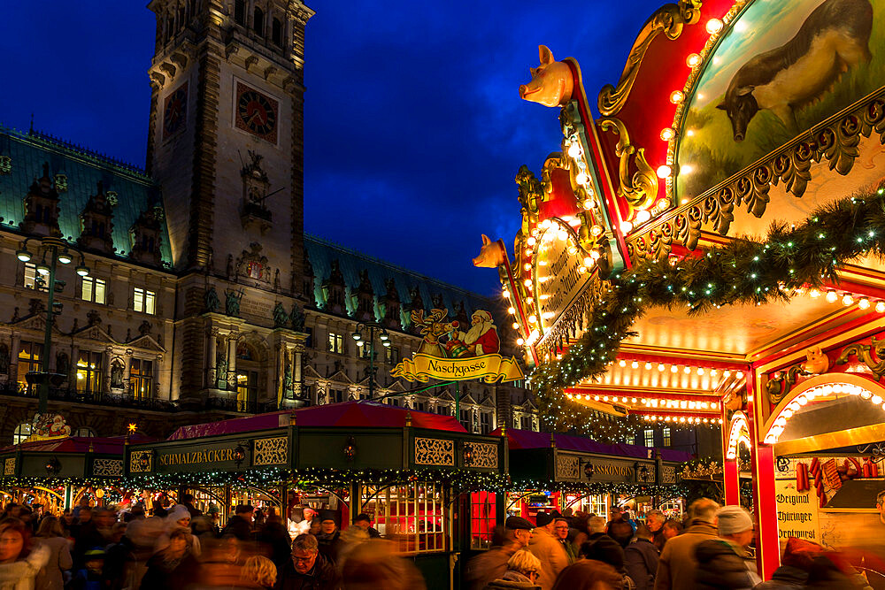
<path id="1" fill-rule="evenodd" d="M 147 165 L 163 189 L 175 268 L 227 274 L 229 259 L 258 244 L 278 289 L 298 295 L 313 11 L 297 0 L 149 8 L 157 34 Z"/>

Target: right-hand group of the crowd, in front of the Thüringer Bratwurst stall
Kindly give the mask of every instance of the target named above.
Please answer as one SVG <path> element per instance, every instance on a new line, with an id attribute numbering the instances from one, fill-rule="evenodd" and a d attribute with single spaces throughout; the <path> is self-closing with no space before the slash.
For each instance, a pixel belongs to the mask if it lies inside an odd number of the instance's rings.
<path id="1" fill-rule="evenodd" d="M 842 556 L 790 539 L 772 579 L 757 575 L 755 526 L 739 506 L 702 498 L 683 521 L 651 510 L 643 523 L 538 512 L 508 517 L 489 551 L 466 568 L 469 590 L 871 590 Z"/>

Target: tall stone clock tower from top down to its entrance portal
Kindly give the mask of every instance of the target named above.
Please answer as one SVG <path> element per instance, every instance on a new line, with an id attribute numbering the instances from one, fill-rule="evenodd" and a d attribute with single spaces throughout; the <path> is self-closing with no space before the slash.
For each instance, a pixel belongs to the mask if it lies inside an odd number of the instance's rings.
<path id="1" fill-rule="evenodd" d="M 313 11 L 299 0 L 148 8 L 157 34 L 147 166 L 181 273 L 173 398 L 235 392 L 240 402 L 241 378 L 252 381 L 237 359 L 260 364 L 256 387 L 279 393 L 295 342 L 284 315 L 297 315 L 304 291 L 304 27 Z"/>

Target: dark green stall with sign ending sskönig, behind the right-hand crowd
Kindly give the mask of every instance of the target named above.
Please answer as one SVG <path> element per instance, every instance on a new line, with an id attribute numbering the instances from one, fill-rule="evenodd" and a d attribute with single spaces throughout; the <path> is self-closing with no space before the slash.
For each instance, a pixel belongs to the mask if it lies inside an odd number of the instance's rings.
<path id="1" fill-rule="evenodd" d="M 540 510 L 570 508 L 608 517 L 612 506 L 621 506 L 642 518 L 665 505 L 673 517 L 681 515 L 677 471 L 689 453 L 518 429 L 507 429 L 506 436 L 513 482 L 508 515 L 534 521 Z"/>

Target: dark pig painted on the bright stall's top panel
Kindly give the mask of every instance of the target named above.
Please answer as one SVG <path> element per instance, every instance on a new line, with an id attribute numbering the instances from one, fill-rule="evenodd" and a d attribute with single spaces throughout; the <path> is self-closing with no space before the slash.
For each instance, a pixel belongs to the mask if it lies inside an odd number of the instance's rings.
<path id="1" fill-rule="evenodd" d="M 789 42 L 752 57 L 717 106 L 731 119 L 735 142 L 743 142 L 760 109 L 796 133 L 795 109 L 819 99 L 848 68 L 870 60 L 872 27 L 869 0 L 826 0 Z"/>

